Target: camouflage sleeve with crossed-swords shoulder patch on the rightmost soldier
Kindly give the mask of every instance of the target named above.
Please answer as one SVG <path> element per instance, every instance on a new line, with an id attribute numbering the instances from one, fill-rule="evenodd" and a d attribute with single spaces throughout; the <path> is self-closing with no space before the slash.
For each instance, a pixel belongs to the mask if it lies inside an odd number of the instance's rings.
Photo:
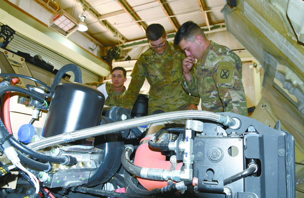
<path id="1" fill-rule="evenodd" d="M 236 62 L 226 56 L 220 56 L 213 61 L 212 78 L 223 102 L 224 112 L 248 116 L 241 72 L 241 61 Z"/>

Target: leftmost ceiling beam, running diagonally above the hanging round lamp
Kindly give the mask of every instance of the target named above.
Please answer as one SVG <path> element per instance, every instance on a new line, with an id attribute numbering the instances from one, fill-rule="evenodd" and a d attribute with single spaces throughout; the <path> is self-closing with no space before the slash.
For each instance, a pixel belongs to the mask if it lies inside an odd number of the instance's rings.
<path id="1" fill-rule="evenodd" d="M 125 43 L 126 38 L 119 33 L 119 31 L 114 28 L 107 20 L 100 20 L 101 14 L 99 14 L 88 2 L 85 0 L 76 0 L 83 8 L 86 9 L 103 27 L 109 30 L 113 35 L 119 39 L 120 42 Z"/>

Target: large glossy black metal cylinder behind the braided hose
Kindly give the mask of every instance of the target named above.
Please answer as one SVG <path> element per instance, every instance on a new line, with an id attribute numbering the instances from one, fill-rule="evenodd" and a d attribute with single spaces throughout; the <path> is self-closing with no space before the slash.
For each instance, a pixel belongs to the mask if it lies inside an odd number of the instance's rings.
<path id="1" fill-rule="evenodd" d="M 104 104 L 104 95 L 86 84 L 76 82 L 57 84 L 42 136 L 51 137 L 98 126 Z"/>

